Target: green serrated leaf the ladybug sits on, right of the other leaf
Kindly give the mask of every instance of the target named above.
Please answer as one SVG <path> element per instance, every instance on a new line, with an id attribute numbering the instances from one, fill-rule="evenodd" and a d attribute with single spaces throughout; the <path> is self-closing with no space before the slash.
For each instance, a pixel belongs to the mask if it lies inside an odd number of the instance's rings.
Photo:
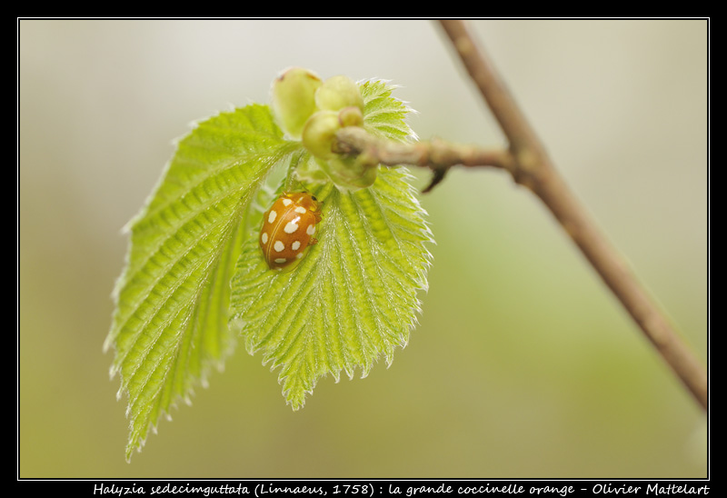
<path id="1" fill-rule="evenodd" d="M 404 140 L 406 107 L 381 82 L 362 85 L 364 126 Z M 318 244 L 292 272 L 268 269 L 248 236 L 232 283 L 231 324 L 250 354 L 280 368 L 287 403 L 297 410 L 326 374 L 336 381 L 369 373 L 383 355 L 393 361 L 419 312 L 432 234 L 403 168 L 380 168 L 376 182 L 354 193 L 333 184 L 309 186 L 324 202 Z"/>

